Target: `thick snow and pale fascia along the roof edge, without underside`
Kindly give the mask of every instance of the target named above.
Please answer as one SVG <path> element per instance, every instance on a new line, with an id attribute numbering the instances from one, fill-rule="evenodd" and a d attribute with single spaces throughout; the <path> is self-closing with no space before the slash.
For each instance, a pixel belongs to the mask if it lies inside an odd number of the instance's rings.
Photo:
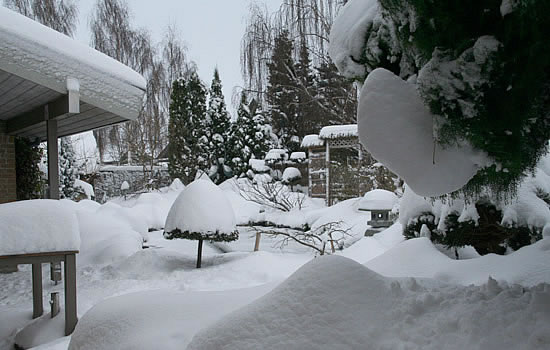
<path id="1" fill-rule="evenodd" d="M 63 94 L 76 79 L 82 101 L 127 119 L 137 118 L 146 87 L 128 66 L 2 6 L 0 69 Z"/>

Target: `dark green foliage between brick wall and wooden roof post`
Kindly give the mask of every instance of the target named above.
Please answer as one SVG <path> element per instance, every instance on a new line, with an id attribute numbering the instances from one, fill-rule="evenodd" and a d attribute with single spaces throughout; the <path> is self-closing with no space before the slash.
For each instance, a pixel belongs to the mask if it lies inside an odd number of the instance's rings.
<path id="1" fill-rule="evenodd" d="M 43 150 L 38 143 L 24 137 L 15 138 L 15 172 L 17 176 L 17 200 L 40 198 L 44 187 L 38 164 Z"/>

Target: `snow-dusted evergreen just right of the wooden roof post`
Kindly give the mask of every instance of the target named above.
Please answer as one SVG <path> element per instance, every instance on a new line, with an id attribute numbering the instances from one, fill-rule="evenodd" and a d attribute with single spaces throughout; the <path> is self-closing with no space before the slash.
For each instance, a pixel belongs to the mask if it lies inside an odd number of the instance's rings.
<path id="1" fill-rule="evenodd" d="M 59 147 L 59 196 L 74 199 L 77 190 L 74 182 L 78 177 L 76 157 L 70 137 L 63 137 Z"/>

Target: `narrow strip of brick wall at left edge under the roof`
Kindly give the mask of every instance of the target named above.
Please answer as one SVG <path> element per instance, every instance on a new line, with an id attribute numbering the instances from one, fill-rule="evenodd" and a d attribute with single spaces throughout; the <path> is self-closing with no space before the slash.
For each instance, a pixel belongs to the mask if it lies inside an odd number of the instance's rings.
<path id="1" fill-rule="evenodd" d="M 15 144 L 13 136 L 5 134 L 5 122 L 0 121 L 0 203 L 16 200 Z"/>

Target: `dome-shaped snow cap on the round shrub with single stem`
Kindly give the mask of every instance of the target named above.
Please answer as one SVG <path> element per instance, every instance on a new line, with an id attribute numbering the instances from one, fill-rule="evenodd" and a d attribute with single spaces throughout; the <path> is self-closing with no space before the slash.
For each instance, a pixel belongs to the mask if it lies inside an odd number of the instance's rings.
<path id="1" fill-rule="evenodd" d="M 236 229 L 235 213 L 231 203 L 212 181 L 198 179 L 180 193 L 170 208 L 165 232 L 225 233 Z"/>

